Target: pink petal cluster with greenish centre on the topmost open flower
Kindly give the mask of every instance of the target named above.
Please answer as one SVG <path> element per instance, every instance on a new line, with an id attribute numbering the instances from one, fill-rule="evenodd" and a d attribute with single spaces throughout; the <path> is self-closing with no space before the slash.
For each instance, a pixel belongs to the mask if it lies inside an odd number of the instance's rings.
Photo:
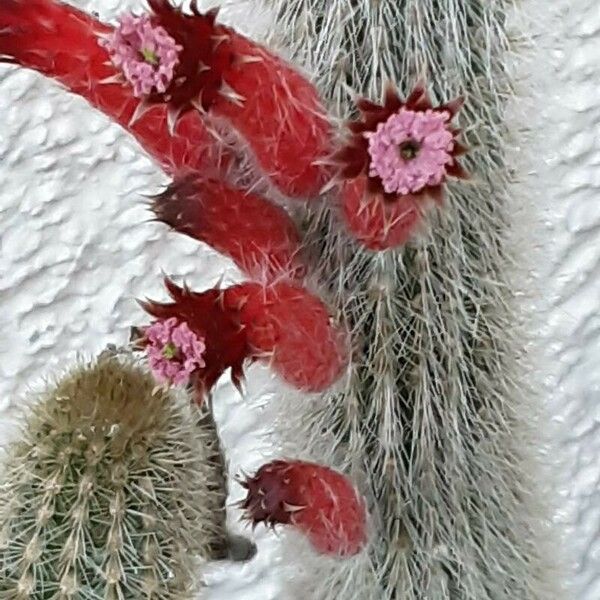
<path id="1" fill-rule="evenodd" d="M 148 15 L 123 15 L 114 33 L 102 44 L 138 98 L 166 91 L 183 49 L 163 27 L 154 26 Z"/>

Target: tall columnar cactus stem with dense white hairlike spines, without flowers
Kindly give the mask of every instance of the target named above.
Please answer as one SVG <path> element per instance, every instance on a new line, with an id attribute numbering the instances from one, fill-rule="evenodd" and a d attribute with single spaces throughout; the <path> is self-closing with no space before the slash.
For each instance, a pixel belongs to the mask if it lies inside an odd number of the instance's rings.
<path id="1" fill-rule="evenodd" d="M 345 388 L 303 415 L 302 443 L 322 459 L 323 432 L 334 431 L 327 462 L 366 474 L 377 527 L 368 560 L 350 574 L 337 564 L 311 573 L 310 597 L 555 598 L 507 243 L 513 3 L 263 3 L 271 37 L 316 74 L 340 117 L 353 93 L 378 101 L 388 80 L 407 94 L 424 79 L 438 102 L 465 96 L 459 125 L 471 148 L 472 181 L 451 184 L 400 250 L 358 247 L 327 206 L 308 220 L 306 246 L 358 353 Z"/>

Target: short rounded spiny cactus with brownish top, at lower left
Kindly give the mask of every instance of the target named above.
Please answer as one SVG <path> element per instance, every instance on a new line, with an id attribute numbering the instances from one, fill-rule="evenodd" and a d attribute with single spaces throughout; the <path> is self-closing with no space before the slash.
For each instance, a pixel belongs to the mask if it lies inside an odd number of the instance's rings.
<path id="1" fill-rule="evenodd" d="M 103 356 L 41 394 L 2 475 L 0 598 L 194 597 L 225 536 L 214 448 L 155 385 Z"/>

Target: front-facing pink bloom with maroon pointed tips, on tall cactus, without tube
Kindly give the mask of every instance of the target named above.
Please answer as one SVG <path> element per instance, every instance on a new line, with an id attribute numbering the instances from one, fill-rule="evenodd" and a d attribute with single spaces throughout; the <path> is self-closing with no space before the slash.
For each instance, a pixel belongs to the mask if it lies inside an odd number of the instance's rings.
<path id="1" fill-rule="evenodd" d="M 381 105 L 359 100 L 361 116 L 349 122 L 352 136 L 336 155 L 342 177 L 366 177 L 367 190 L 385 201 L 425 195 L 441 201 L 448 176 L 467 177 L 457 160 L 466 149 L 451 125 L 462 102 L 434 107 L 423 85 L 405 101 L 392 87 Z"/>

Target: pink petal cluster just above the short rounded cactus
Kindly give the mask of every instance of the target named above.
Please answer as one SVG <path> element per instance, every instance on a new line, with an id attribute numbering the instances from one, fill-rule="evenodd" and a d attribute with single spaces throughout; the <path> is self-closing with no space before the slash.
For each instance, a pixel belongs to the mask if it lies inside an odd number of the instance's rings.
<path id="1" fill-rule="evenodd" d="M 175 317 L 155 321 L 145 329 L 148 362 L 159 381 L 180 385 L 205 367 L 206 345 L 185 322 Z"/>

